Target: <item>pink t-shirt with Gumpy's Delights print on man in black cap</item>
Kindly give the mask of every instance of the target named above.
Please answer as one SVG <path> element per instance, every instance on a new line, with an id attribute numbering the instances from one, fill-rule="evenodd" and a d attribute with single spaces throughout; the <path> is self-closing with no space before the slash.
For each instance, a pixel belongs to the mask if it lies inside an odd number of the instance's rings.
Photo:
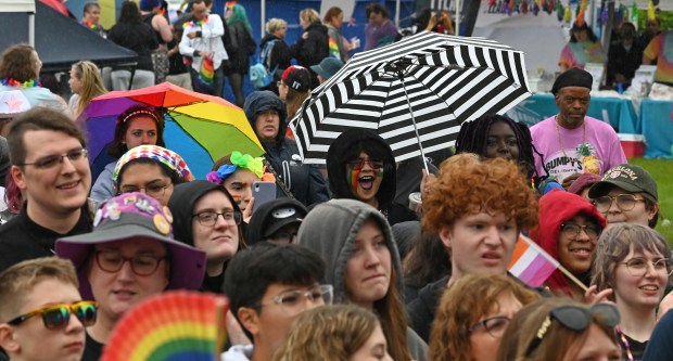
<path id="1" fill-rule="evenodd" d="M 576 147 L 584 142 L 593 146 L 594 155 L 600 160 L 600 175 L 614 166 L 626 163 L 626 155 L 619 137 L 609 124 L 592 117 L 584 117 L 584 124 L 586 125 L 586 138 L 584 127 L 566 129 L 559 126 L 557 131 L 556 116 L 531 127 L 533 145 L 543 155 L 541 159 L 535 154 L 535 169 L 538 175 L 546 173 L 543 164 L 549 171 L 549 177 L 556 177 L 559 182 L 574 172 L 583 173 L 584 166 L 577 159 Z"/>

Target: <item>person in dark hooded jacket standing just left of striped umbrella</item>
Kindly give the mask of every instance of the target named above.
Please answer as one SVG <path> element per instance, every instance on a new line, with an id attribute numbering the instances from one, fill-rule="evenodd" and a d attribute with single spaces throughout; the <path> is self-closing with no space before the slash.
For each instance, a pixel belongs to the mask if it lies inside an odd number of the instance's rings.
<path id="1" fill-rule="evenodd" d="M 245 99 L 244 111 L 266 150 L 265 158 L 277 172 L 277 194 L 293 196 L 307 207 L 328 201 L 327 185 L 320 168 L 317 165 L 302 164 L 296 142 L 285 139 L 288 113 L 283 101 L 268 90 L 255 91 Z"/>

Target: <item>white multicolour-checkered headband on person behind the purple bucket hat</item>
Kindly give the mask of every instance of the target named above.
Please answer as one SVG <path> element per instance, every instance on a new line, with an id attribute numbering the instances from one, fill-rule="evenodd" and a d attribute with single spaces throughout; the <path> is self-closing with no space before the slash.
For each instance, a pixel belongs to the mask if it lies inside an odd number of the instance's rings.
<path id="1" fill-rule="evenodd" d="M 158 145 L 138 145 L 124 153 L 117 162 L 117 165 L 114 167 L 114 172 L 112 173 L 113 189 L 117 189 L 117 181 L 119 180 L 119 171 L 122 168 L 124 168 L 127 163 L 138 158 L 154 159 L 176 171 L 185 179 L 186 182 L 194 179 L 194 176 L 191 170 L 189 170 L 187 163 L 185 163 L 185 159 L 182 159 L 179 154 Z"/>

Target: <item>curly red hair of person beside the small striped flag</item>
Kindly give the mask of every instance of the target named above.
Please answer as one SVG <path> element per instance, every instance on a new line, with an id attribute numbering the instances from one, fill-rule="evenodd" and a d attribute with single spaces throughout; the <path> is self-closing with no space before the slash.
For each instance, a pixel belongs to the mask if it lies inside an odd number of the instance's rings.
<path id="1" fill-rule="evenodd" d="M 515 163 L 469 153 L 446 159 L 423 198 L 423 229 L 436 232 L 481 211 L 512 217 L 519 230 L 537 224 L 535 194 Z"/>

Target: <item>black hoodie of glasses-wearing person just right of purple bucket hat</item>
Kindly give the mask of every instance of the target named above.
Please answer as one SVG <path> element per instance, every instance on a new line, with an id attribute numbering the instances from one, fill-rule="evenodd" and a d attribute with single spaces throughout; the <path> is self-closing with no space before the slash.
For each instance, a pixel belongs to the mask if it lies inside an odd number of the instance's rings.
<path id="1" fill-rule="evenodd" d="M 202 196 L 206 193 L 215 190 L 220 190 L 231 205 L 233 206 L 233 211 L 240 212 L 238 204 L 233 201 L 233 197 L 227 192 L 227 190 L 216 183 L 211 183 L 204 180 L 195 180 L 191 182 L 186 182 L 182 184 L 178 184 L 175 186 L 173 194 L 170 195 L 170 199 L 168 199 L 168 208 L 173 214 L 173 234 L 176 241 L 180 241 L 190 246 L 194 246 L 194 238 L 192 232 L 192 220 L 193 220 L 193 211 L 194 205 Z M 243 230 L 239 225 L 239 249 L 241 249 L 241 245 L 243 244 Z M 225 263 L 224 270 L 227 269 L 227 265 Z M 225 272 L 218 275 L 208 275 L 206 273 L 205 279 L 203 280 L 203 284 L 201 285 L 201 291 L 213 292 L 213 293 L 221 293 L 223 282 L 225 280 Z"/>

